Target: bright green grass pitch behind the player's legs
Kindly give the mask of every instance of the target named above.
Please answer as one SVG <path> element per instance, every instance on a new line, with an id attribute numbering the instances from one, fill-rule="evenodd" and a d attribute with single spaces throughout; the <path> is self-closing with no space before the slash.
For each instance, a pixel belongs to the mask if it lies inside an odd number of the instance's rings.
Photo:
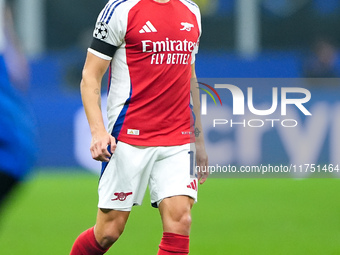
<path id="1" fill-rule="evenodd" d="M 95 222 L 97 183 L 81 171 L 35 174 L 0 215 L 0 254 L 69 254 Z M 339 194 L 339 179 L 211 178 L 193 209 L 190 254 L 340 254 Z M 161 235 L 147 194 L 107 254 L 157 254 Z"/>

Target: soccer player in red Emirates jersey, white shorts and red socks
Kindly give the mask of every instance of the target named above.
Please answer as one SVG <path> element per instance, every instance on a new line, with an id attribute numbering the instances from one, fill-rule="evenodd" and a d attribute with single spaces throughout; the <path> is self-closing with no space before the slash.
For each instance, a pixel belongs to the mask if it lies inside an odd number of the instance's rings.
<path id="1" fill-rule="evenodd" d="M 99 209 L 71 255 L 104 254 L 147 185 L 163 224 L 158 255 L 189 253 L 197 182 L 208 176 L 194 171 L 194 161 L 208 165 L 194 68 L 200 34 L 191 0 L 110 0 L 99 14 L 81 81 L 90 150 L 103 162 Z M 107 132 L 100 91 L 109 66 Z"/>

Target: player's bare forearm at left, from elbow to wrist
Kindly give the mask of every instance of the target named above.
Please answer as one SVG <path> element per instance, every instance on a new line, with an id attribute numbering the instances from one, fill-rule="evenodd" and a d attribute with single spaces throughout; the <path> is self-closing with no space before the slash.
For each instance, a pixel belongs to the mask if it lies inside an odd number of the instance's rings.
<path id="1" fill-rule="evenodd" d="M 101 111 L 100 87 L 101 81 L 86 75 L 86 73 L 83 74 L 83 79 L 80 84 L 81 97 L 92 135 L 105 131 Z"/>

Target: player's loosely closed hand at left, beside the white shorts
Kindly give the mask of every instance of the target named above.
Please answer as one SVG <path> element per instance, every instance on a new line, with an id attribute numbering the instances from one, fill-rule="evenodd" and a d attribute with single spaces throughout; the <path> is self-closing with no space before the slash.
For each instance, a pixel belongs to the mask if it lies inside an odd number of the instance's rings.
<path id="1" fill-rule="evenodd" d="M 95 160 L 108 162 L 116 147 L 116 139 L 107 132 L 102 132 L 92 136 L 90 151 L 92 158 Z"/>

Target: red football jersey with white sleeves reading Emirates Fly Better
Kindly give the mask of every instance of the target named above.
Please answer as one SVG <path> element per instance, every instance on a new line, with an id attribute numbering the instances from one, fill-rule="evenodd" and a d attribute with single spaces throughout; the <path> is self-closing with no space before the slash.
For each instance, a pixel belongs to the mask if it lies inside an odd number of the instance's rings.
<path id="1" fill-rule="evenodd" d="M 201 34 L 190 0 L 111 0 L 100 13 L 90 52 L 112 60 L 107 112 L 118 141 L 170 146 L 193 138 L 191 64 Z M 99 45 L 99 46 L 98 46 Z M 114 56 L 107 48 L 116 47 Z"/>

